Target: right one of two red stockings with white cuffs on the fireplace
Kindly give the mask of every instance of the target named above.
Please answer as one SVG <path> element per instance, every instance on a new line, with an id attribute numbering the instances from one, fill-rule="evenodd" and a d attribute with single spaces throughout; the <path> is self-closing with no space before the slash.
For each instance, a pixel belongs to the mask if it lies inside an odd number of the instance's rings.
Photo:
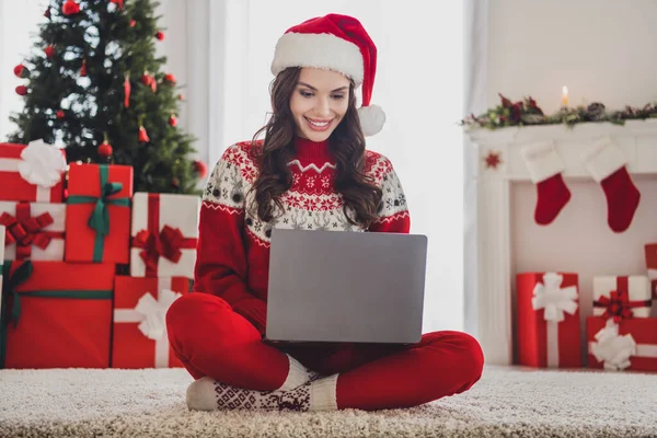
<path id="1" fill-rule="evenodd" d="M 632 223 L 641 193 L 632 182 L 623 152 L 610 138 L 588 148 L 583 157 L 587 171 L 599 183 L 607 197 L 607 222 L 614 232 L 623 232 Z"/>

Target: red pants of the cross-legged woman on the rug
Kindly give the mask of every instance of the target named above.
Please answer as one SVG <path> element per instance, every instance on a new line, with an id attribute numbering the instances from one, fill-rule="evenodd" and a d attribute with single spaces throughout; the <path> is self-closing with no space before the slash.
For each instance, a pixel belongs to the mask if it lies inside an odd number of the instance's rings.
<path id="1" fill-rule="evenodd" d="M 189 293 L 166 314 L 171 346 L 195 379 L 204 376 L 257 391 L 281 387 L 285 353 L 322 374 L 339 373 L 338 408 L 416 406 L 466 391 L 481 377 L 479 343 L 460 332 L 425 334 L 412 346 L 334 344 L 286 347 L 263 343 L 258 331 L 222 299 Z"/>

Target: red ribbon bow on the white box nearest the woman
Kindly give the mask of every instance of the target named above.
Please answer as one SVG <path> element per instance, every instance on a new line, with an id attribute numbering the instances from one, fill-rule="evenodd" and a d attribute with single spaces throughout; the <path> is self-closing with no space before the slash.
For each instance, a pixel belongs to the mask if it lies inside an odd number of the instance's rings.
<path id="1" fill-rule="evenodd" d="M 160 256 L 178 263 L 183 255 L 182 249 L 193 247 L 195 239 L 185 239 L 180 228 L 162 227 L 160 233 L 141 230 L 135 237 L 134 245 L 143 249 L 139 253 L 149 272 L 157 272 Z"/>

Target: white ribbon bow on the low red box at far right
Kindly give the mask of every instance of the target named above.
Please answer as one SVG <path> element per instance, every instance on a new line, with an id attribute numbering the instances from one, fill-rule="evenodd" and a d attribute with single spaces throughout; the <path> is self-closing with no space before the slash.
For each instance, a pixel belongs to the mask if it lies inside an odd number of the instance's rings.
<path id="1" fill-rule="evenodd" d="M 604 362 L 604 369 L 620 371 L 627 368 L 630 356 L 636 355 L 636 342 L 632 335 L 619 335 L 619 325 L 613 320 L 607 321 L 607 326 L 596 333 L 591 344 L 591 353 L 598 361 Z"/>

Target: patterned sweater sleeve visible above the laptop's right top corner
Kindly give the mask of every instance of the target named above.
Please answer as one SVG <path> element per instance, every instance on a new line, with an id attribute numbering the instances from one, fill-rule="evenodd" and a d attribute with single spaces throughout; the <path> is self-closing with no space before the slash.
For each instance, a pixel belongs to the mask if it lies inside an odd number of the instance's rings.
<path id="1" fill-rule="evenodd" d="M 383 197 L 379 208 L 379 219 L 371 223 L 369 231 L 407 234 L 411 231 L 411 215 L 402 183 L 390 160 L 380 155 L 377 161 L 372 173 L 383 191 Z"/>

